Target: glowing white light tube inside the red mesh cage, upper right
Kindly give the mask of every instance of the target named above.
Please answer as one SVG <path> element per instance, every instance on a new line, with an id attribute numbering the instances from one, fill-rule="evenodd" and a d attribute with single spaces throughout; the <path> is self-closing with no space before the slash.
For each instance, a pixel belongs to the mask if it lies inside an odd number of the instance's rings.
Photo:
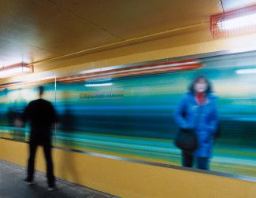
<path id="1" fill-rule="evenodd" d="M 237 28 L 250 27 L 256 25 L 256 13 L 239 16 L 233 19 L 218 21 L 217 25 L 222 30 L 232 30 Z"/>

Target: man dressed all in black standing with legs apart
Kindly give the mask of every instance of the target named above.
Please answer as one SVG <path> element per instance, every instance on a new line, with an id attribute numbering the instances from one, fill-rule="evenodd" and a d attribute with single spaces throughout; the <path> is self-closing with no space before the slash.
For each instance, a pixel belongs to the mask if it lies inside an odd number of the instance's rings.
<path id="1" fill-rule="evenodd" d="M 55 177 L 54 167 L 51 156 L 51 128 L 57 121 L 54 106 L 49 101 L 43 99 L 43 86 L 39 86 L 39 99 L 31 101 L 24 110 L 23 122 L 30 123 L 30 141 L 29 141 L 29 159 L 28 159 L 28 176 L 24 180 L 29 185 L 34 184 L 35 172 L 35 153 L 39 145 L 43 146 L 44 156 L 46 159 L 46 176 L 48 189 L 54 190 Z"/>

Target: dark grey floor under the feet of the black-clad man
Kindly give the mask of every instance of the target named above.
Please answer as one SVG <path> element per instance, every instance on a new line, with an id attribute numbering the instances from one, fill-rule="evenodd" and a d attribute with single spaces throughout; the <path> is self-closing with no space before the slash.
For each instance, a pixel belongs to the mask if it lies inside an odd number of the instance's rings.
<path id="1" fill-rule="evenodd" d="M 48 192 L 46 176 L 40 172 L 35 174 L 35 185 L 26 185 L 24 181 L 26 170 L 13 163 L 0 160 L 0 198 L 37 198 L 37 197 L 60 197 L 60 198 L 113 198 L 104 192 L 88 189 L 80 185 L 57 179 L 57 190 Z"/>

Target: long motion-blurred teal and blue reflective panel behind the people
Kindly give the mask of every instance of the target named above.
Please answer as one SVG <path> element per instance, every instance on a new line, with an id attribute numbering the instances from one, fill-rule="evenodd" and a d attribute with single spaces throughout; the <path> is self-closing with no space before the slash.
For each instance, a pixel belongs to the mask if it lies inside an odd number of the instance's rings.
<path id="1" fill-rule="evenodd" d="M 180 166 L 173 111 L 200 74 L 213 83 L 221 126 L 210 170 L 255 177 L 256 52 L 198 61 L 202 68 L 184 72 L 57 82 L 56 92 L 47 83 L 46 97 L 59 116 L 54 145 Z M 35 93 L 35 87 L 0 92 L 2 138 L 27 140 L 28 130 L 14 123 Z"/>

